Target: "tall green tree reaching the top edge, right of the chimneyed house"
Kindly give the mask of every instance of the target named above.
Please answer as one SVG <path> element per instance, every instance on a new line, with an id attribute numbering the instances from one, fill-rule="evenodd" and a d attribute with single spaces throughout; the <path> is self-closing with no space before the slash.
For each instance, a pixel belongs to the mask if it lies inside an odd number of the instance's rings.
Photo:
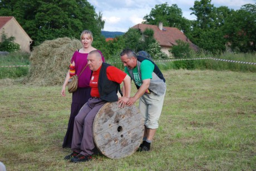
<path id="1" fill-rule="evenodd" d="M 214 7 L 211 0 L 195 1 L 194 7 L 190 8 L 196 16 L 193 21 L 193 29 L 188 37 L 200 48 L 219 54 L 225 51 L 225 33 L 223 26 L 233 10 L 228 7 Z"/>

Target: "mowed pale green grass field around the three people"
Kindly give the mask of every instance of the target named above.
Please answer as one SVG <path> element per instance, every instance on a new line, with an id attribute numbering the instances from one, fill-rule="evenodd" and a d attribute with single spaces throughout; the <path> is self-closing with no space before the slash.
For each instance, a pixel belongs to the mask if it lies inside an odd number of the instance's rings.
<path id="1" fill-rule="evenodd" d="M 71 94 L 0 83 L 0 161 L 7 170 L 255 170 L 256 74 L 164 71 L 168 89 L 150 152 L 63 160 Z M 135 86 L 132 84 L 132 92 Z"/>

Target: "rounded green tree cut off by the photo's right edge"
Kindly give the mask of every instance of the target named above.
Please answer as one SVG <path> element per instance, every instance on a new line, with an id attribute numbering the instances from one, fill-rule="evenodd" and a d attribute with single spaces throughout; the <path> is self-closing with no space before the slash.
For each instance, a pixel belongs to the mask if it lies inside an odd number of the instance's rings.
<path id="1" fill-rule="evenodd" d="M 256 51 L 256 3 L 245 4 L 234 11 L 223 27 L 225 38 L 233 51 Z"/>

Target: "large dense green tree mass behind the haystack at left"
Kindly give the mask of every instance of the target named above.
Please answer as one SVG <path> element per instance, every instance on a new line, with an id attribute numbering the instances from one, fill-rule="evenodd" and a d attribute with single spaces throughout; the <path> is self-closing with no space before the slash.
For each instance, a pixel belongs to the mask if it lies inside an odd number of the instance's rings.
<path id="1" fill-rule="evenodd" d="M 104 28 L 102 14 L 87 0 L 1 0 L 0 8 L 0 15 L 14 16 L 36 45 L 58 37 L 79 38 L 84 29 L 97 37 Z"/>

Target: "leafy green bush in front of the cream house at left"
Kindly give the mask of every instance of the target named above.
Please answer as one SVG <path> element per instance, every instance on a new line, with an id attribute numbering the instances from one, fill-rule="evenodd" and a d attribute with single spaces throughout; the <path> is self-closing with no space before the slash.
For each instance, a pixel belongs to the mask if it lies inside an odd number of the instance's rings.
<path id="1" fill-rule="evenodd" d="M 13 36 L 7 38 L 6 34 L 2 33 L 2 42 L 0 43 L 0 51 L 6 52 L 17 52 L 20 49 L 18 43 L 15 43 L 15 38 Z"/>

